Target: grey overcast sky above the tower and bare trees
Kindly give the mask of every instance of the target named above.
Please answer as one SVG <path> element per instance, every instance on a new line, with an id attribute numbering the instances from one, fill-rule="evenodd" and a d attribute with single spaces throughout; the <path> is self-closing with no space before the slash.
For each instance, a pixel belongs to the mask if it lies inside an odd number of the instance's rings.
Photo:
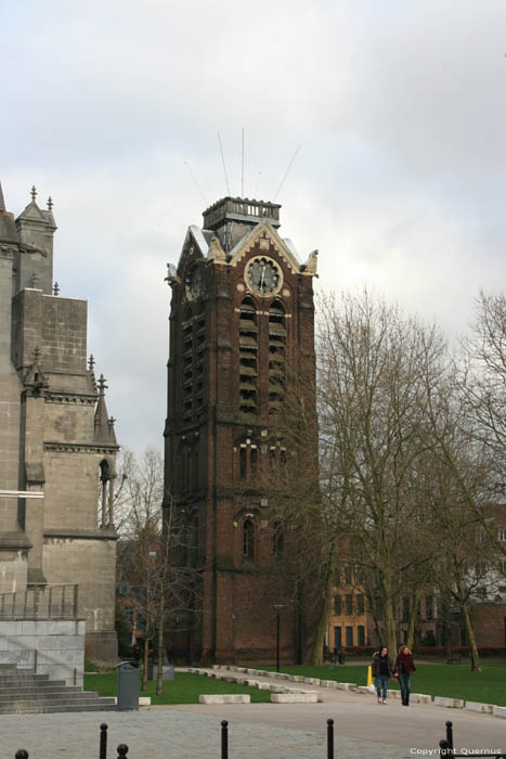
<path id="1" fill-rule="evenodd" d="M 61 295 L 120 441 L 160 446 L 186 228 L 277 201 L 316 287 L 364 284 L 452 337 L 506 273 L 505 0 L 0 0 L 0 180 L 54 200 Z M 189 162 L 199 190 L 185 166 Z M 204 195 L 204 197 L 203 197 Z"/>

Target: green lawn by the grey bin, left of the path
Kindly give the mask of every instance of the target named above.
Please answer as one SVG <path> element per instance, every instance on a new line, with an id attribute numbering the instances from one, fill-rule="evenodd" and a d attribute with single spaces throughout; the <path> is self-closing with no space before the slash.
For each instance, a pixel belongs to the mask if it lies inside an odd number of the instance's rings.
<path id="1" fill-rule="evenodd" d="M 101 696 L 116 696 L 116 672 L 85 676 L 85 691 L 98 689 Z M 147 691 L 139 691 L 140 696 L 151 696 L 151 703 L 156 704 L 198 704 L 200 694 L 216 693 L 247 693 L 251 697 L 251 704 L 271 700 L 269 691 L 259 691 L 256 687 L 237 685 L 236 683 L 203 678 L 199 674 L 189 672 L 176 672 L 172 681 L 164 682 L 164 693 L 156 695 L 156 682 L 147 683 Z"/>

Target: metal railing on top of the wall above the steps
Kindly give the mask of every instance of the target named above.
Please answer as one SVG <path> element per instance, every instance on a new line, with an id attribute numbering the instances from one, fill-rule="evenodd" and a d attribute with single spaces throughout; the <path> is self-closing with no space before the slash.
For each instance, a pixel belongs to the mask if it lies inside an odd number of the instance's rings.
<path id="1" fill-rule="evenodd" d="M 78 586 L 49 586 L 0 594 L 0 619 L 77 619 Z"/>

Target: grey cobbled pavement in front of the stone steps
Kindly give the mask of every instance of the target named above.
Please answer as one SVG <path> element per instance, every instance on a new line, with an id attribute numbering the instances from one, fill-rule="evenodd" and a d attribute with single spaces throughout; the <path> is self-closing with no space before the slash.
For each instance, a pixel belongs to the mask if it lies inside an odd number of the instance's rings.
<path id="1" fill-rule="evenodd" d="M 273 706 L 272 708 L 275 708 Z M 14 758 L 25 748 L 30 759 L 93 759 L 99 756 L 102 722 L 108 724 L 109 759 L 116 747 L 126 743 L 128 759 L 218 759 L 221 747 L 221 720 L 191 715 L 174 708 L 152 707 L 128 712 L 79 712 L 68 715 L 8 715 L 0 718 L 1 756 Z M 335 736 L 339 759 L 404 759 L 405 748 Z M 255 724 L 233 720 L 229 723 L 230 759 L 325 759 L 325 725 L 322 733 L 308 730 Z"/>

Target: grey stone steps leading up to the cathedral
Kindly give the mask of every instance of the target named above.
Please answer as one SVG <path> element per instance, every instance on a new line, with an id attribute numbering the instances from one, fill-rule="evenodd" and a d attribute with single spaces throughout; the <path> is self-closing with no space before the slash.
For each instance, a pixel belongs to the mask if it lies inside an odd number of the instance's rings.
<path id="1" fill-rule="evenodd" d="M 116 709 L 114 698 L 93 691 L 34 674 L 15 665 L 0 665 L 0 715 L 34 715 L 53 711 L 106 711 Z"/>

